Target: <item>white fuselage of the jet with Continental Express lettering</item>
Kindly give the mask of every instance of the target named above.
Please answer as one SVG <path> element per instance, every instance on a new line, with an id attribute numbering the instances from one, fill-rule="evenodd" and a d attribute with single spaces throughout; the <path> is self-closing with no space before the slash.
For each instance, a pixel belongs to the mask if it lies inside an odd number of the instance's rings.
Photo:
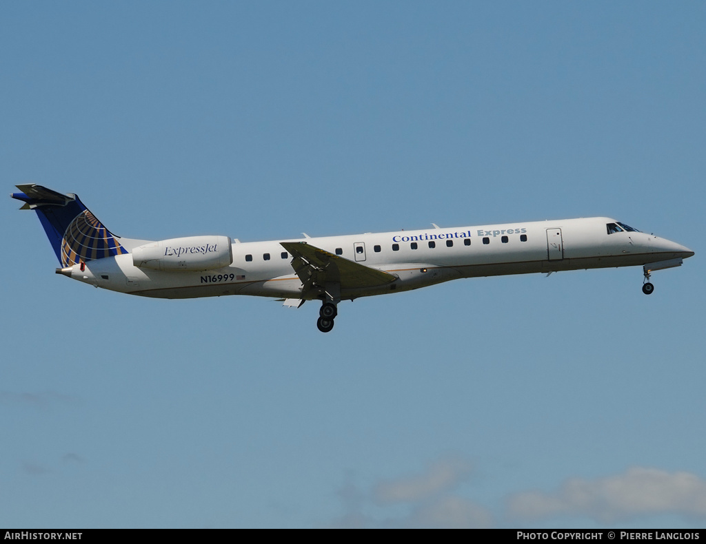
<path id="1" fill-rule="evenodd" d="M 232 264 L 215 270 L 148 270 L 133 265 L 133 255 L 128 253 L 89 261 L 83 265 L 84 270 L 80 270 L 81 265 L 73 265 L 66 275 L 104 289 L 157 298 L 222 295 L 318 298 L 302 294 L 302 282 L 290 264 L 292 255 L 280 245 L 280 242 L 306 242 L 397 277 L 383 286 L 341 289 L 341 299 L 352 299 L 407 291 L 462 277 L 645 265 L 693 255 L 688 248 L 652 234 L 625 230 L 609 234 L 606 225 L 614 223 L 614 219 L 607 217 L 592 217 L 236 242 L 232 244 Z M 130 241 L 126 241 L 126 247 L 127 242 Z"/>

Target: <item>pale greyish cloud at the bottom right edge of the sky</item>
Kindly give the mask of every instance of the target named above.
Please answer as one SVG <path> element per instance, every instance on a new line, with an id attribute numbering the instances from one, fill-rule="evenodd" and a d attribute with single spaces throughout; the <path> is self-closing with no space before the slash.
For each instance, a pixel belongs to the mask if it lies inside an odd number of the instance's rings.
<path id="1" fill-rule="evenodd" d="M 606 523 L 654 514 L 706 517 L 706 481 L 688 472 L 633 467 L 597 480 L 570 478 L 556 492 L 517 493 L 508 500 L 508 514 L 522 519 L 579 515 Z"/>

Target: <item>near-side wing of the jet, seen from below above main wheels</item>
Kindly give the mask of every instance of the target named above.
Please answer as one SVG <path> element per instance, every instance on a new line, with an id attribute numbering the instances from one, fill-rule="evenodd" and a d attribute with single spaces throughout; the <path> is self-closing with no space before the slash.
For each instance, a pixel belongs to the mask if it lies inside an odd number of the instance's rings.
<path id="1" fill-rule="evenodd" d="M 306 242 L 280 242 L 291 253 L 292 268 L 304 284 L 304 292 L 312 286 L 325 286 L 327 283 L 340 284 L 341 289 L 360 289 L 389 284 L 397 276 L 361 265 L 311 246 Z"/>

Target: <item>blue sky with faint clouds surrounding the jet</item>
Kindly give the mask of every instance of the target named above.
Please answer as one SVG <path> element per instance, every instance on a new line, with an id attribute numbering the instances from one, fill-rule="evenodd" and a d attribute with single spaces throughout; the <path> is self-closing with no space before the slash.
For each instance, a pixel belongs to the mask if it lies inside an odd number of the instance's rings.
<path id="1" fill-rule="evenodd" d="M 701 527 L 706 8 L 11 2 L 6 190 L 120 236 L 608 215 L 695 250 L 318 308 L 54 274 L 6 198 L 0 526 Z"/>

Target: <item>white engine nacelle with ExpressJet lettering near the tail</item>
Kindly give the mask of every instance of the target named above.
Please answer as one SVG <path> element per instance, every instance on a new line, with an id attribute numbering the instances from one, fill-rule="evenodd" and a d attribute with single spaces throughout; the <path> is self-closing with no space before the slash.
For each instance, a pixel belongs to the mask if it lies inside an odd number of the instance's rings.
<path id="1" fill-rule="evenodd" d="M 233 262 L 228 236 L 187 236 L 145 243 L 132 251 L 133 265 L 150 270 L 213 270 Z"/>

